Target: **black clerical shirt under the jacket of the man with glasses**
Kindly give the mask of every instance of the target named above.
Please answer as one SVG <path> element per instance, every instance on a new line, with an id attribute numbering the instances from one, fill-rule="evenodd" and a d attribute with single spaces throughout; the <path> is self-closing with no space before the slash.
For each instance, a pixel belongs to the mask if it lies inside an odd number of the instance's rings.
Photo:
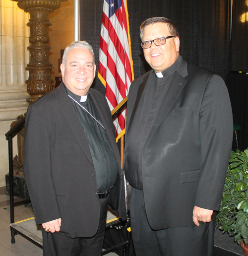
<path id="1" fill-rule="evenodd" d="M 125 170 L 125 178 L 136 189 L 143 189 L 142 152 L 146 142 L 144 139 L 147 138 L 154 124 L 175 71 L 181 62 L 182 57 L 179 56 L 174 64 L 162 71 L 163 77 L 157 77 L 155 71 L 149 74 L 133 118 L 133 125 L 127 131 L 126 136 L 129 136 L 129 144 L 126 149 L 128 151 L 126 159 L 128 168 Z"/>

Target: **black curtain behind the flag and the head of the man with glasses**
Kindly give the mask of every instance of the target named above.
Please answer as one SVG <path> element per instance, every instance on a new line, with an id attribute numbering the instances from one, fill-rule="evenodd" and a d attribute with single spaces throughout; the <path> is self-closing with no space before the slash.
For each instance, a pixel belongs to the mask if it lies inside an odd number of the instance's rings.
<path id="1" fill-rule="evenodd" d="M 230 0 L 127 0 L 134 77 L 150 66 L 140 47 L 139 26 L 153 16 L 172 19 L 180 32 L 180 54 L 187 62 L 221 75 L 230 70 Z M 80 1 L 80 40 L 94 50 L 98 70 L 103 0 Z M 93 87 L 105 92 L 98 78 Z"/>

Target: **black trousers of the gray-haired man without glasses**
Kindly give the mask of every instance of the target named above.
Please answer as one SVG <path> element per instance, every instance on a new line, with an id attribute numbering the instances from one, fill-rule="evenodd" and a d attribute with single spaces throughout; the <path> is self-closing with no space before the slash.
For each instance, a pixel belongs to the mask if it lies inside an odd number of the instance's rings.
<path id="1" fill-rule="evenodd" d="M 46 232 L 41 228 L 43 256 L 101 256 L 106 227 L 108 197 L 99 199 L 101 203 L 99 227 L 96 235 L 91 238 L 70 238 L 61 235 L 59 232 Z"/>

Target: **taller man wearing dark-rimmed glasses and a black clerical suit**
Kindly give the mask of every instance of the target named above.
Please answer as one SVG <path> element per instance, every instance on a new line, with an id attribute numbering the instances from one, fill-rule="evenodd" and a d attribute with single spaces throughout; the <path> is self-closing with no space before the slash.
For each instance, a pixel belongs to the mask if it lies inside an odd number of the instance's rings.
<path id="1" fill-rule="evenodd" d="M 136 256 L 211 256 L 233 137 L 228 91 L 180 56 L 171 20 L 145 20 L 140 38 L 152 70 L 130 87 L 123 168 Z"/>

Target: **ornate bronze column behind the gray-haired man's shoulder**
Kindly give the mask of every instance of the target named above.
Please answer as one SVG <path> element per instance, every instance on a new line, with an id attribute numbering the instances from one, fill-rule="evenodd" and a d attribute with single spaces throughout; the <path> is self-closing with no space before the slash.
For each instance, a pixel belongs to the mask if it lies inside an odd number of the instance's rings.
<path id="1" fill-rule="evenodd" d="M 30 13 L 27 25 L 30 27 L 28 50 L 30 51 L 30 62 L 26 66 L 29 71 L 27 92 L 30 97 L 27 99 L 29 105 L 34 103 L 43 94 L 53 89 L 54 80 L 51 79 L 53 65 L 49 62 L 48 36 L 49 22 L 48 13 L 58 9 L 61 0 L 19 0 L 18 7 Z"/>

